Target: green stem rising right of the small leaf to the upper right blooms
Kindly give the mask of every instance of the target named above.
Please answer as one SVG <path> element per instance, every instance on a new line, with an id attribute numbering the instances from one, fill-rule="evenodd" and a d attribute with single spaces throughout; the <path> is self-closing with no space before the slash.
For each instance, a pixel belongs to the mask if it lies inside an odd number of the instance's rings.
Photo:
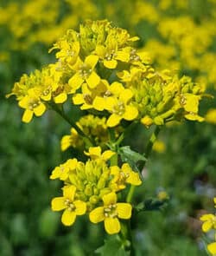
<path id="1" fill-rule="evenodd" d="M 152 133 L 152 135 L 150 136 L 149 142 L 148 142 L 147 147 L 146 147 L 146 150 L 145 150 L 146 161 L 148 161 L 149 154 L 150 154 L 151 151 L 152 151 L 153 144 L 155 143 L 156 137 L 157 137 L 157 135 L 159 134 L 159 132 L 160 132 L 160 127 L 159 127 L 159 126 L 156 126 L 155 131 L 154 131 L 154 132 Z M 143 162 L 142 162 L 142 165 L 140 166 L 140 171 L 143 170 L 143 167 L 145 166 L 146 161 L 143 161 Z M 128 194 L 127 194 L 127 199 L 126 199 L 126 201 L 127 201 L 128 203 L 130 203 L 130 202 L 132 201 L 134 191 L 135 191 L 135 186 L 131 185 L 131 186 L 130 186 L 130 190 L 129 190 Z"/>

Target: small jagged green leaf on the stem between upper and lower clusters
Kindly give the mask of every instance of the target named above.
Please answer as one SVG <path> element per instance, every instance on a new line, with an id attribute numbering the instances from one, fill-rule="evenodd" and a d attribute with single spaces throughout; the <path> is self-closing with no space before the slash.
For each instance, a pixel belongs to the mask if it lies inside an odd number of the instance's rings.
<path id="1" fill-rule="evenodd" d="M 124 146 L 119 148 L 118 154 L 120 154 L 122 161 L 128 162 L 130 164 L 130 167 L 132 167 L 137 172 L 139 171 L 137 167 L 137 162 L 147 160 L 143 154 L 139 154 L 136 151 L 130 149 L 130 146 Z"/>

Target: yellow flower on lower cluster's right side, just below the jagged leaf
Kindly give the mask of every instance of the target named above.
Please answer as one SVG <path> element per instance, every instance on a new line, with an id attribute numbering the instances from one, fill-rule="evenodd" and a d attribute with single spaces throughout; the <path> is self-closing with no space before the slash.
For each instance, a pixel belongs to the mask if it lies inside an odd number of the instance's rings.
<path id="1" fill-rule="evenodd" d="M 111 167 L 111 175 L 113 175 L 111 187 L 115 191 L 124 189 L 126 183 L 134 186 L 139 186 L 142 183 L 139 174 L 133 172 L 128 163 L 124 163 L 121 168 L 118 166 Z"/>

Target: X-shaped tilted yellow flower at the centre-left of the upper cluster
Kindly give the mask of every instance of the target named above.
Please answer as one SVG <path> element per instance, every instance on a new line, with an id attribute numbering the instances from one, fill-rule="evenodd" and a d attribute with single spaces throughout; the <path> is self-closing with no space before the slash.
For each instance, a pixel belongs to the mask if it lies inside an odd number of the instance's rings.
<path id="1" fill-rule="evenodd" d="M 98 85 L 100 82 L 100 77 L 94 71 L 94 67 L 97 65 L 97 63 L 98 56 L 86 56 L 84 62 L 78 58 L 78 61 L 72 67 L 76 73 L 68 81 L 72 91 L 79 89 L 85 81 L 90 88 L 95 88 Z"/>

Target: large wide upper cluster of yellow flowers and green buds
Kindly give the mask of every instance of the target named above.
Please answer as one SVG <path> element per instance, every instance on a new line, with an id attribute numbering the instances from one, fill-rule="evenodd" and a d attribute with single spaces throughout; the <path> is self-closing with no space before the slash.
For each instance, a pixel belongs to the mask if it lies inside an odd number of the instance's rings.
<path id="1" fill-rule="evenodd" d="M 22 121 L 42 115 L 50 103 L 66 102 L 68 95 L 81 110 L 104 115 L 108 128 L 123 120 L 147 127 L 183 117 L 203 121 L 198 108 L 204 88 L 187 76 L 153 69 L 148 54 L 131 45 L 137 40 L 106 20 L 68 30 L 51 49 L 57 62 L 16 82 L 12 94 L 25 109 Z"/>

